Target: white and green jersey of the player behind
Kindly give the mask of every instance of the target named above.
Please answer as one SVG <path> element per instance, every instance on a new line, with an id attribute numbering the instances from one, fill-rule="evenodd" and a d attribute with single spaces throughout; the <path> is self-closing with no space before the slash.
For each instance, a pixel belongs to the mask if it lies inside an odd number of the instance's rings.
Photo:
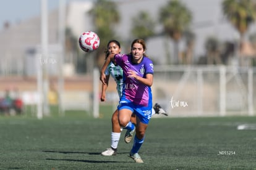
<path id="1" fill-rule="evenodd" d="M 106 68 L 105 75 L 111 75 L 116 81 L 116 90 L 118 92 L 119 98 L 122 96 L 122 68 L 119 65 L 115 65 L 113 62 L 110 62 Z"/>

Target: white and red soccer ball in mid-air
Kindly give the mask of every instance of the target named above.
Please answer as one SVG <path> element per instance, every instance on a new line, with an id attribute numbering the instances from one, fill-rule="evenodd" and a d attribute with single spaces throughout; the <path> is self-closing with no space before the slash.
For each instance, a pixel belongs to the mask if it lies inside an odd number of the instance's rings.
<path id="1" fill-rule="evenodd" d="M 92 52 L 100 46 L 100 38 L 93 31 L 86 31 L 79 37 L 79 46 L 85 52 Z"/>

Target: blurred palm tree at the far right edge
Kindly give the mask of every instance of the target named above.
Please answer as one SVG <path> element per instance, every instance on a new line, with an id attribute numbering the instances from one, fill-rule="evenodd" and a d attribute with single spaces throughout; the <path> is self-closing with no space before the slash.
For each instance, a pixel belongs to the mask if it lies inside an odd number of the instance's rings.
<path id="1" fill-rule="evenodd" d="M 249 25 L 256 20 L 256 5 L 254 0 L 224 0 L 222 3 L 224 15 L 240 34 L 240 42 L 244 40 L 244 34 Z"/>

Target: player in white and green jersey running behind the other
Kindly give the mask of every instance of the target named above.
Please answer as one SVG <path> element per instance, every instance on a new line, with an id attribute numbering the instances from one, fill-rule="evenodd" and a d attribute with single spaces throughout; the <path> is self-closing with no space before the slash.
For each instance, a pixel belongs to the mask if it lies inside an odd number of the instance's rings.
<path id="1" fill-rule="evenodd" d="M 108 42 L 107 46 L 107 51 L 108 54 L 119 54 L 121 52 L 121 46 L 120 43 L 116 40 L 111 40 Z M 114 81 L 116 82 L 117 86 L 117 92 L 119 94 L 119 97 L 121 98 L 122 95 L 122 86 L 123 86 L 123 71 L 122 68 L 119 67 L 114 62 L 110 62 L 108 67 L 105 70 L 105 75 L 106 75 L 106 83 L 102 84 L 101 86 L 101 101 L 104 102 L 106 100 L 106 89 L 108 87 L 108 81 L 109 77 L 112 76 L 114 78 Z M 117 145 L 119 143 L 119 139 L 121 136 L 121 127 L 119 125 L 118 117 L 117 117 L 118 111 L 114 111 L 113 116 L 112 116 L 112 132 L 111 132 L 111 147 L 107 148 L 104 152 L 101 153 L 101 155 L 104 156 L 111 156 L 111 155 L 116 155 L 117 153 Z M 166 111 L 163 110 L 163 108 L 158 105 L 158 103 L 155 104 L 154 108 L 152 109 L 152 115 L 153 114 L 164 114 L 168 116 Z M 130 121 L 133 124 L 136 124 L 136 118 L 135 115 L 132 114 Z M 129 143 L 132 140 L 132 135 L 134 133 L 135 129 L 132 131 L 127 130 L 126 136 L 125 136 L 125 142 Z"/>

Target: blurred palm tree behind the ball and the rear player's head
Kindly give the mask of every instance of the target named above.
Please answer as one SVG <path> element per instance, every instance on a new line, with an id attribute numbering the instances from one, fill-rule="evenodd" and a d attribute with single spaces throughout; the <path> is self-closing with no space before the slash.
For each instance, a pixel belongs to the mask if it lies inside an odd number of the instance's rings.
<path id="1" fill-rule="evenodd" d="M 119 23 L 120 17 L 117 5 L 113 1 L 97 0 L 92 10 L 89 11 L 95 24 L 95 32 L 100 37 L 100 47 L 95 52 L 98 67 L 104 60 L 104 51 L 110 39 L 114 39 L 114 25 Z"/>

